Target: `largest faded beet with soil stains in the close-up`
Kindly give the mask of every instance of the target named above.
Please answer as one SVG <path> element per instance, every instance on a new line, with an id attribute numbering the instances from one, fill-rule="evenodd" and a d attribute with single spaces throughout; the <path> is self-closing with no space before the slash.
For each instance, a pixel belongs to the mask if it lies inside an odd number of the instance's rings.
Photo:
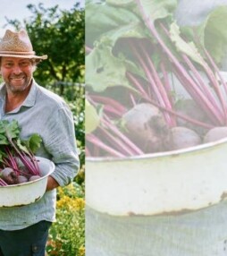
<path id="1" fill-rule="evenodd" d="M 129 133 L 130 139 L 145 152 L 163 150 L 168 127 L 157 107 L 148 103 L 136 105 L 122 116 L 122 124 Z"/>

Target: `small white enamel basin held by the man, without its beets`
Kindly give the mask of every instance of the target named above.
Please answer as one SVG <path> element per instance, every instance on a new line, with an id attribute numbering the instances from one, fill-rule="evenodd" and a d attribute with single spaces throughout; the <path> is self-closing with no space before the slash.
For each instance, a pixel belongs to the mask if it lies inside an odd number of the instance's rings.
<path id="1" fill-rule="evenodd" d="M 55 164 L 46 159 L 38 158 L 41 178 L 9 186 L 0 186 L 0 207 L 14 207 L 38 201 L 46 192 L 47 177 L 55 170 Z"/>

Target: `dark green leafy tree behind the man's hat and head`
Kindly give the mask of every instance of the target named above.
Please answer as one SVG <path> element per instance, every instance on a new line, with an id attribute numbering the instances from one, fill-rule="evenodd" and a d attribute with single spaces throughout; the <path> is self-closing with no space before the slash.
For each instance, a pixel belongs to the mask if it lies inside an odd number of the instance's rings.
<path id="1" fill-rule="evenodd" d="M 59 10 L 58 5 L 45 8 L 43 4 L 29 4 L 27 7 L 32 13 L 28 19 L 7 21 L 16 30 L 26 28 L 37 54 L 48 55 L 46 61 L 38 64 L 36 81 L 42 85 L 55 81 L 84 82 L 84 9 L 79 4 L 70 11 Z"/>

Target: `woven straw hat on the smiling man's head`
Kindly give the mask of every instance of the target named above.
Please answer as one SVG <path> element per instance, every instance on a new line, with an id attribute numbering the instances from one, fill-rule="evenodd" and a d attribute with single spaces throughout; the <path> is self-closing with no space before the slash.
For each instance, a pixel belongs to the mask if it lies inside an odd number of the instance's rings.
<path id="1" fill-rule="evenodd" d="M 32 58 L 37 61 L 47 58 L 47 55 L 36 55 L 26 30 L 19 32 L 6 30 L 4 37 L 0 40 L 0 56 Z"/>

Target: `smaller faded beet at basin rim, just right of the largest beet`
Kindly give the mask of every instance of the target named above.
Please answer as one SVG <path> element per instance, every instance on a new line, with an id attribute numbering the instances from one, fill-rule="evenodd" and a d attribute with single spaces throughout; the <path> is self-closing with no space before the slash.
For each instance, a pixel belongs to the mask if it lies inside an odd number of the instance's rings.
<path id="1" fill-rule="evenodd" d="M 187 127 L 176 126 L 171 129 L 170 141 L 169 145 L 166 145 L 166 149 L 184 149 L 201 143 L 202 140 L 197 132 Z"/>

